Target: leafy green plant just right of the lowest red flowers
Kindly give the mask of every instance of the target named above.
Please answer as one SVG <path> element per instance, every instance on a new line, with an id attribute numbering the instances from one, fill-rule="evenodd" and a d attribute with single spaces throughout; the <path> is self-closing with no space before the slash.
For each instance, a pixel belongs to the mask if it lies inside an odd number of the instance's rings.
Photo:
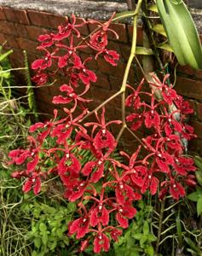
<path id="1" fill-rule="evenodd" d="M 127 229 L 124 232 L 124 236 L 121 236 L 119 241 L 114 244 L 114 255 L 154 255 L 153 241 L 156 241 L 157 238 L 153 235 L 151 230 L 151 212 L 153 207 L 146 206 L 146 204 L 141 201 L 139 208 L 129 229 Z"/>

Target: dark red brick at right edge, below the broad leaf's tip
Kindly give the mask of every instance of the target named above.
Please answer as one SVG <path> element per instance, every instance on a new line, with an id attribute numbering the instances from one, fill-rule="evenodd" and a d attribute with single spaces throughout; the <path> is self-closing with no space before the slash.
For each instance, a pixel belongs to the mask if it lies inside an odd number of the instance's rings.
<path id="1" fill-rule="evenodd" d="M 182 96 L 202 100 L 202 82 L 199 80 L 177 77 L 175 89 Z"/>

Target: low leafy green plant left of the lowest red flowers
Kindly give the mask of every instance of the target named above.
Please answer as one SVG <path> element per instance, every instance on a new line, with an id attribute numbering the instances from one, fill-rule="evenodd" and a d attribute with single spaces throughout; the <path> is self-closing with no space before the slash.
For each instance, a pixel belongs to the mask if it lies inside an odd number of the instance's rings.
<path id="1" fill-rule="evenodd" d="M 43 195 L 43 199 L 46 196 Z M 29 195 L 26 195 L 29 201 Z M 69 245 L 70 238 L 66 234 L 67 224 L 72 219 L 72 213 L 76 206 L 69 202 L 66 206 L 60 206 L 58 202 L 37 200 L 25 203 L 21 211 L 32 219 L 32 230 L 26 236 L 33 241 L 33 255 L 55 255 L 58 249 Z"/>

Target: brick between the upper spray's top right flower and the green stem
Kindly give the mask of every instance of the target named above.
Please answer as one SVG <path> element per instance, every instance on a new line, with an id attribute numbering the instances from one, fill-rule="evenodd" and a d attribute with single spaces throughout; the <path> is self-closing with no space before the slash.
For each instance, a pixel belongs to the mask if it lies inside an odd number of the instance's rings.
<path id="1" fill-rule="evenodd" d="M 118 41 L 119 42 L 128 42 L 128 38 L 126 35 L 126 26 L 125 24 L 120 24 L 120 23 L 111 23 L 109 26 L 110 29 L 115 31 L 118 34 Z M 112 40 L 117 40 L 116 36 L 114 35 L 113 32 L 108 32 L 108 38 Z"/>

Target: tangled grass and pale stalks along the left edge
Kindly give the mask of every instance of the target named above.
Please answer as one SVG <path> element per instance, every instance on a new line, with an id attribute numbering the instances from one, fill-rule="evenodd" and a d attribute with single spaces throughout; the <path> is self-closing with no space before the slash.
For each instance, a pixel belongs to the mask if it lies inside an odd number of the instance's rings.
<path id="1" fill-rule="evenodd" d="M 27 126 L 26 111 L 20 101 L 12 96 L 14 83 L 8 56 L 0 47 L 0 255 L 29 256 L 32 253 L 26 233 L 30 221 L 20 211 L 23 202 L 21 181 L 10 177 L 13 170 L 8 165 L 10 149 L 23 147 Z"/>

